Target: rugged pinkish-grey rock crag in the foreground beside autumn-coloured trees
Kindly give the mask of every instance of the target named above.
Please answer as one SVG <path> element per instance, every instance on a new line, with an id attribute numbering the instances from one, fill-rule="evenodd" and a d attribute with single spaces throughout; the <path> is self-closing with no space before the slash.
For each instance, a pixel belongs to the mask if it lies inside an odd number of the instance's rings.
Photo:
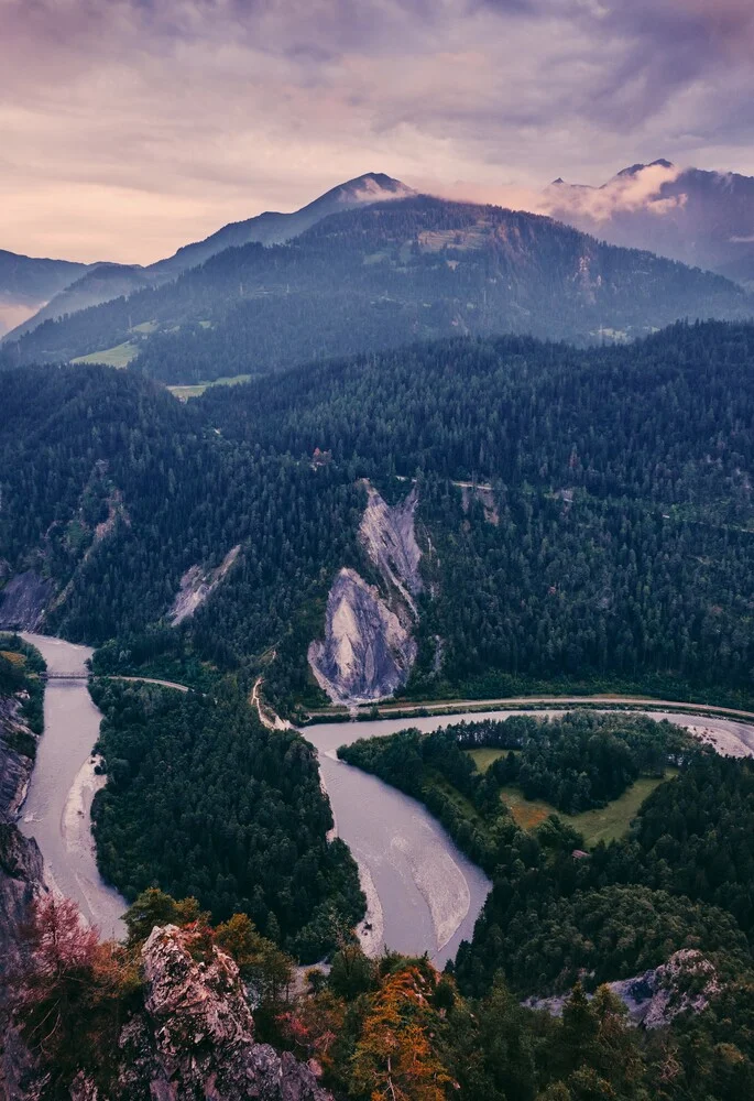
<path id="1" fill-rule="evenodd" d="M 218 948 L 197 951 L 192 934 L 155 928 L 143 949 L 144 1010 L 124 1026 L 118 1101 L 332 1101 L 291 1053 L 254 1040 L 236 963 Z M 75 1097 L 91 1098 L 90 1083 Z"/>

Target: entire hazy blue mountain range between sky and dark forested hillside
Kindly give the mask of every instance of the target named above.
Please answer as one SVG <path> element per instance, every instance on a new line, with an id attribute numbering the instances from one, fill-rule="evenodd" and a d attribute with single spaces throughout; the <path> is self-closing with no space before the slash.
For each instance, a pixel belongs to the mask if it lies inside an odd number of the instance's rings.
<path id="1" fill-rule="evenodd" d="M 149 268 L 0 253 L 7 324 L 22 316 L 0 361 L 135 361 L 194 383 L 459 334 L 590 344 L 754 314 L 754 179 L 660 160 L 545 200 L 560 220 L 371 172 Z"/>

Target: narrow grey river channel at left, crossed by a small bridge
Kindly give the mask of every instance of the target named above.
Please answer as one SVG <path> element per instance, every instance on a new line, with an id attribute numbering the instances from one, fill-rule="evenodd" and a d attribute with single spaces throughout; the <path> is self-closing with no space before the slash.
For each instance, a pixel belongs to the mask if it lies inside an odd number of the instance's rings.
<path id="1" fill-rule="evenodd" d="M 50 673 L 80 669 L 92 651 L 62 639 L 24 633 L 40 651 Z M 77 903 L 103 937 L 125 934 L 125 901 L 99 874 L 91 837 L 90 809 L 101 778 L 94 773 L 91 750 L 101 713 L 86 680 L 51 680 L 44 694 L 44 734 L 19 826 L 36 838 L 51 887 Z"/>

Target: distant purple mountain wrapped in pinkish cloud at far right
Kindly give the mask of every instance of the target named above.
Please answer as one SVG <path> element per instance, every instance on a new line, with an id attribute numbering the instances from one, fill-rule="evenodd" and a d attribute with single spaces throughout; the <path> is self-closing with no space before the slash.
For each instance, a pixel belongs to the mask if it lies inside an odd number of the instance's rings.
<path id="1" fill-rule="evenodd" d="M 613 244 L 651 249 L 754 286 L 754 177 L 633 164 L 601 187 L 556 179 L 554 217 Z"/>

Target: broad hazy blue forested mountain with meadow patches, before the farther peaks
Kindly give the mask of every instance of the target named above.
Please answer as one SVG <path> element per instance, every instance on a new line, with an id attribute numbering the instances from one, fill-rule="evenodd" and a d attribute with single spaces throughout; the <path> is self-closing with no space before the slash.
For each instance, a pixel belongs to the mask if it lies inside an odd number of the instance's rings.
<path id="1" fill-rule="evenodd" d="M 752 314 L 719 275 L 537 215 L 416 196 L 330 215 L 288 244 L 227 249 L 172 283 L 46 321 L 6 359 L 128 344 L 135 368 L 194 382 L 442 336 L 589 344 Z"/>

